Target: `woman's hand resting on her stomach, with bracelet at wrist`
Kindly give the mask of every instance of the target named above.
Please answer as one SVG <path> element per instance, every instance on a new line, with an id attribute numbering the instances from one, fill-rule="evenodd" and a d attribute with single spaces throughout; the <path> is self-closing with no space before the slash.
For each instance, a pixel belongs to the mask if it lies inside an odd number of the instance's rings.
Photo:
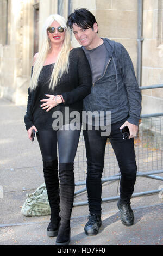
<path id="1" fill-rule="evenodd" d="M 42 107 L 42 109 L 47 109 L 46 112 L 48 112 L 49 110 L 51 110 L 53 107 L 57 106 L 58 104 L 64 102 L 62 100 L 61 95 L 52 95 L 52 94 L 45 94 L 47 97 L 49 97 L 49 99 L 42 99 L 40 100 L 41 102 L 45 102 L 42 105 L 40 105 L 40 107 Z"/>

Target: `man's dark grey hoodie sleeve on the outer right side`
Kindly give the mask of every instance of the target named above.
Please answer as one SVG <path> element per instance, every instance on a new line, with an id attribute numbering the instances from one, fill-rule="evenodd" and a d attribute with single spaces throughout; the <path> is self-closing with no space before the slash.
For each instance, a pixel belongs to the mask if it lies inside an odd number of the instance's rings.
<path id="1" fill-rule="evenodd" d="M 135 77 L 135 71 L 130 56 L 123 45 L 118 44 L 120 47 L 118 61 L 121 64 L 122 76 L 124 85 L 128 94 L 129 101 L 129 118 L 127 121 L 131 124 L 138 125 L 141 113 L 141 92 Z"/>

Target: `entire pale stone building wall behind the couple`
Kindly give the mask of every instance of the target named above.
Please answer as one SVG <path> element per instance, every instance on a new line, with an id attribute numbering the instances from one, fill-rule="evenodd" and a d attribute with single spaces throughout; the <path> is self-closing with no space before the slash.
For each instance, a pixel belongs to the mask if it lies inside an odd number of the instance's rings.
<path id="1" fill-rule="evenodd" d="M 43 22 L 52 13 L 59 13 L 67 19 L 68 14 L 76 8 L 87 8 L 96 16 L 99 36 L 121 42 L 127 48 L 137 74 L 137 2 L 137 0 L 1 0 L 0 96 L 7 97 L 17 104 L 26 104 L 32 58 Z M 162 8 L 163 0 L 143 1 L 142 86 L 160 84 L 163 80 Z M 36 15 L 39 15 L 38 21 Z M 72 46 L 79 46 L 73 33 Z M 143 90 L 142 94 L 142 113 L 163 112 L 162 89 Z M 152 108 L 150 108 L 151 102 L 153 102 Z"/>

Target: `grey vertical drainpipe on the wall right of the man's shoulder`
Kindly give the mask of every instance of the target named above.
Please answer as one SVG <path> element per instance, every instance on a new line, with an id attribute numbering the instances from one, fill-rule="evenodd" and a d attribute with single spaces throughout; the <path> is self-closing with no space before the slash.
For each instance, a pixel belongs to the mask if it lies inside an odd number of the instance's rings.
<path id="1" fill-rule="evenodd" d="M 141 86 L 142 71 L 142 17 L 143 17 L 143 0 L 137 0 L 137 82 Z"/>

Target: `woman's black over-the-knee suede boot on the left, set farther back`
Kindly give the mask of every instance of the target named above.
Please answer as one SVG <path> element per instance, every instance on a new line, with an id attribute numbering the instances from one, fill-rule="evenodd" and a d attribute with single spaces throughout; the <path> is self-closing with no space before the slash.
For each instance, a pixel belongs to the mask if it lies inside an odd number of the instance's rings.
<path id="1" fill-rule="evenodd" d="M 51 208 L 51 222 L 47 227 L 47 235 L 55 237 L 58 235 L 59 229 L 59 179 L 58 179 L 58 161 L 57 159 L 52 161 L 43 160 L 43 174 L 45 179 L 45 185 Z"/>

